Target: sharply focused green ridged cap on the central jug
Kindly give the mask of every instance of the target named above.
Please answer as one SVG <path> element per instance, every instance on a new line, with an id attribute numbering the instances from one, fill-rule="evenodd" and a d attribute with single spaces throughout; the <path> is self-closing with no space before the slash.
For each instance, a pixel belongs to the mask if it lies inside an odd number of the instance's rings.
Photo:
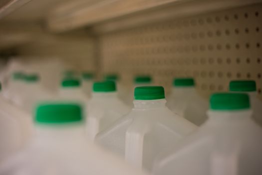
<path id="1" fill-rule="evenodd" d="M 139 86 L 135 88 L 134 99 L 152 100 L 165 98 L 165 90 L 162 86 Z"/>

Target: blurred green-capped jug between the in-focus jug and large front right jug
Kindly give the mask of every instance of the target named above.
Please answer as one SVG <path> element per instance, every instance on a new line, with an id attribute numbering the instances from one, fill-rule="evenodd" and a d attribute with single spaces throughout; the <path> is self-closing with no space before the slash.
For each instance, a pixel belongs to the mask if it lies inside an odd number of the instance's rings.
<path id="1" fill-rule="evenodd" d="M 168 107 L 196 125 L 207 119 L 208 102 L 196 92 L 193 78 L 174 79 Z"/>

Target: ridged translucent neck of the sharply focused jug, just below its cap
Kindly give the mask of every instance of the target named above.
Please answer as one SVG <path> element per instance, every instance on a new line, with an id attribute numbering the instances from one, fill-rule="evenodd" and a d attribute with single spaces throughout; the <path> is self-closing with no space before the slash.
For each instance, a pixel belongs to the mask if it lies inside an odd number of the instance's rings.
<path id="1" fill-rule="evenodd" d="M 166 99 L 154 99 L 154 100 L 134 100 L 134 109 L 154 109 L 165 108 Z"/>

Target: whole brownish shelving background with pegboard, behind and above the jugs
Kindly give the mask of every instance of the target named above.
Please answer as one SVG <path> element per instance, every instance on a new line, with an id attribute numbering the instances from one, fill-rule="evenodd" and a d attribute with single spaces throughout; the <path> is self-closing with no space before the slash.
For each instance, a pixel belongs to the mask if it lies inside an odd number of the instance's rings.
<path id="1" fill-rule="evenodd" d="M 261 98 L 261 2 L 1 0 L 0 62 L 56 61 L 98 78 L 117 73 L 127 86 L 149 74 L 167 92 L 174 77 L 191 76 L 205 97 L 254 79 Z"/>

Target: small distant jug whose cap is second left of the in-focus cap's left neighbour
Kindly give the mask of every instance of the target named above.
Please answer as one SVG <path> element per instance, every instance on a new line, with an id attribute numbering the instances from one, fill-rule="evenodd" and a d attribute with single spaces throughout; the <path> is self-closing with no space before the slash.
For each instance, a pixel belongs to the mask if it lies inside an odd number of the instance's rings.
<path id="1" fill-rule="evenodd" d="M 90 97 L 92 92 L 94 74 L 91 72 L 83 72 L 82 73 L 82 90 L 84 93 Z"/>

